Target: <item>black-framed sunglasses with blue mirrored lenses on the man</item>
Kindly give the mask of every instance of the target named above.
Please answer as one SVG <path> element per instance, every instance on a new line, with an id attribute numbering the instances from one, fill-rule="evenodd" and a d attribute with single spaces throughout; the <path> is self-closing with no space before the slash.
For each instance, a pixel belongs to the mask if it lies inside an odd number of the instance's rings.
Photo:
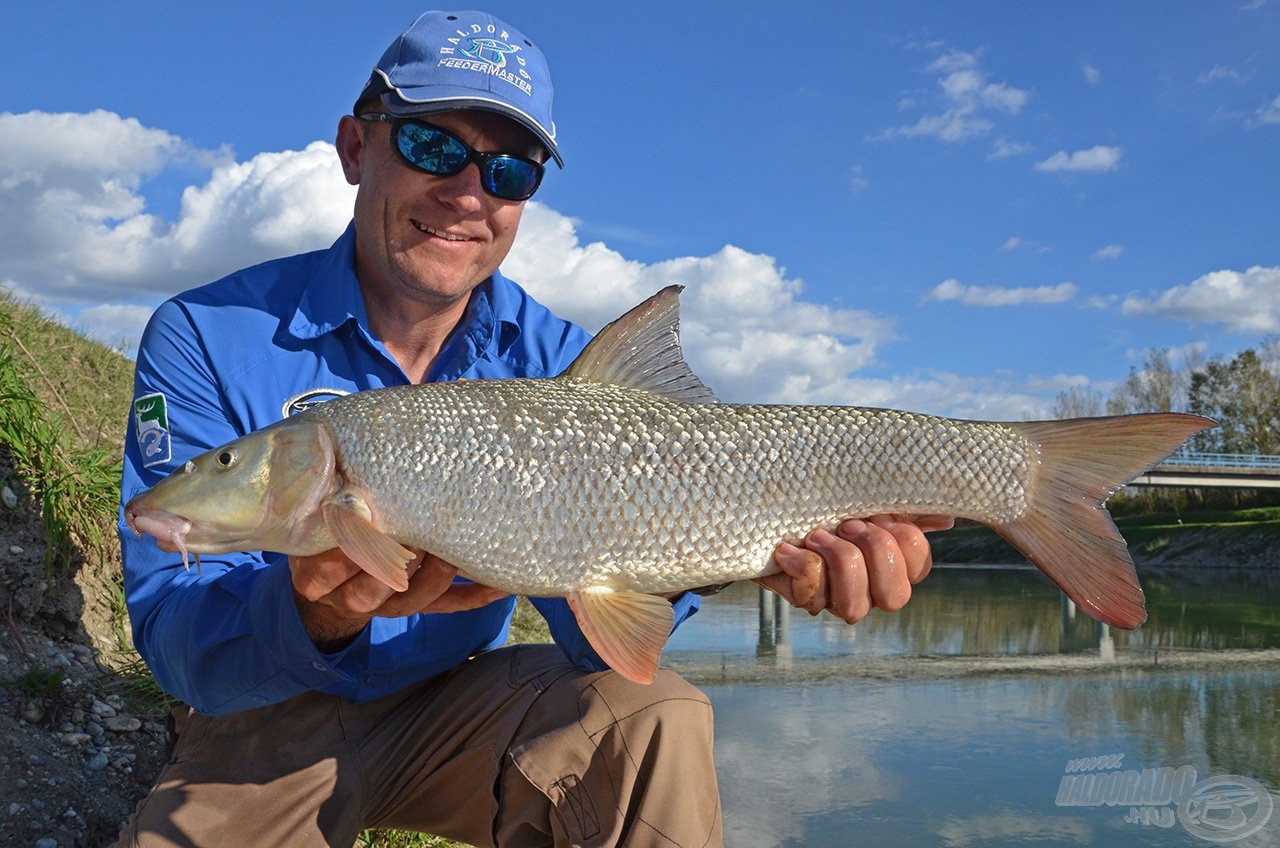
<path id="1" fill-rule="evenodd" d="M 529 200 L 543 181 L 541 163 L 511 154 L 480 152 L 434 124 L 380 111 L 356 118 L 390 124 L 392 149 L 413 168 L 434 177 L 452 177 L 474 161 L 480 169 L 480 184 L 499 200 Z"/>

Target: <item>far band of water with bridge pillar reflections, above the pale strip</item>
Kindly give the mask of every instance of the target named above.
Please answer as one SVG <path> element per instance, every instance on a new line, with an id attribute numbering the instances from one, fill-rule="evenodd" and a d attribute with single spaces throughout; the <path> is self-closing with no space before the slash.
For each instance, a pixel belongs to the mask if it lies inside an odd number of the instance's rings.
<path id="1" fill-rule="evenodd" d="M 1143 575 L 1148 620 L 1134 632 L 1098 624 L 1030 567 L 940 566 L 893 614 L 856 626 L 810 619 L 750 583 L 708 598 L 677 632 L 668 661 L 686 666 L 744 660 L 890 656 L 1142 657 L 1187 649 L 1280 648 L 1280 571 L 1169 570 Z"/>

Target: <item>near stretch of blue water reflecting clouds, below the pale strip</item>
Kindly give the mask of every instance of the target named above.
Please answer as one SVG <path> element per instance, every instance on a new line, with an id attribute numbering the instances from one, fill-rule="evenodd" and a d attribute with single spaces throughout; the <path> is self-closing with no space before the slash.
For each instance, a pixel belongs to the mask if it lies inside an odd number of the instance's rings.
<path id="1" fill-rule="evenodd" d="M 1280 670 L 925 681 L 724 684 L 717 771 L 732 848 L 1204 845 L 1061 806 L 1066 763 L 1192 766 L 1280 787 Z M 1174 811 L 1172 806 L 1164 810 Z M 1280 820 L 1242 845 L 1280 844 Z"/>

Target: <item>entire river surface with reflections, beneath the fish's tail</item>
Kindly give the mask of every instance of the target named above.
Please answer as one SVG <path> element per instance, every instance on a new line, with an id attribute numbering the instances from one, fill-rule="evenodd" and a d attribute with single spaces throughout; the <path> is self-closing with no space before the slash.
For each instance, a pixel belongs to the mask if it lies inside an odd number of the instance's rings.
<path id="1" fill-rule="evenodd" d="M 708 598 L 664 662 L 716 707 L 726 844 L 1280 845 L 1280 571 L 1143 584 L 1133 633 L 1029 567 L 855 626 Z"/>

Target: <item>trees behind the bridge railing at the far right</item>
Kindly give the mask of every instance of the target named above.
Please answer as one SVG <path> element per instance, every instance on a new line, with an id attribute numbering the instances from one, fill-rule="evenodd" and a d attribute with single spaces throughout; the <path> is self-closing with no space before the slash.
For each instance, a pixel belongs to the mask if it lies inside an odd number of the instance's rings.
<path id="1" fill-rule="evenodd" d="M 1190 450 L 1213 453 L 1280 455 L 1280 337 L 1226 359 L 1204 360 L 1199 348 L 1152 350 L 1142 366 L 1110 395 L 1093 388 L 1061 392 L 1055 418 L 1125 415 L 1129 412 L 1196 412 L 1217 427 L 1196 436 Z M 1174 494 L 1174 493 L 1170 493 Z M 1272 505 L 1280 496 L 1262 491 L 1230 491 L 1210 496 L 1183 492 L 1175 500 L 1215 505 Z M 1164 500 L 1147 491 L 1151 506 Z"/>

